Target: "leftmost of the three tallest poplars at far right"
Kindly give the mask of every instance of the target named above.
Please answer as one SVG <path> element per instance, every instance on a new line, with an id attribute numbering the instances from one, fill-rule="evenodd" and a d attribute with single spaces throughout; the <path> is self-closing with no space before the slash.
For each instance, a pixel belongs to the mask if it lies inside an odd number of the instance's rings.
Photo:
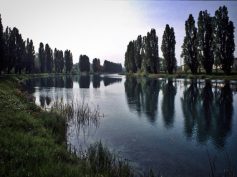
<path id="1" fill-rule="evenodd" d="M 181 57 L 184 58 L 184 63 L 193 74 L 196 74 L 198 69 L 197 42 L 197 28 L 195 27 L 195 20 L 192 14 L 190 14 L 185 22 L 185 37 Z"/>

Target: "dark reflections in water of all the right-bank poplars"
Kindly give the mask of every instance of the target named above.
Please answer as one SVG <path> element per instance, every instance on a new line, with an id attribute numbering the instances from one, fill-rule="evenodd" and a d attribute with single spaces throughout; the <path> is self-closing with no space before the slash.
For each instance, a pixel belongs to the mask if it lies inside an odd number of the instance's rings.
<path id="1" fill-rule="evenodd" d="M 162 91 L 161 112 L 166 128 L 174 126 L 177 81 L 127 77 L 124 83 L 127 104 L 138 116 L 146 115 L 149 122 L 157 119 L 159 92 Z M 228 81 L 212 85 L 206 80 L 191 80 L 184 84 L 181 108 L 184 116 L 184 133 L 195 137 L 201 144 L 211 139 L 217 148 L 223 148 L 231 131 L 233 95 Z M 181 83 L 180 83 L 181 84 Z"/>

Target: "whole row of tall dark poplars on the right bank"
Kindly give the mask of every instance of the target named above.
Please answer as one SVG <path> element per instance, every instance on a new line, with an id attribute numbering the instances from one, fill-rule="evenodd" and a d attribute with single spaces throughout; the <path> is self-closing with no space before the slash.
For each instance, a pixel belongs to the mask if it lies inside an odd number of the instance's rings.
<path id="1" fill-rule="evenodd" d="M 129 42 L 125 52 L 127 72 L 159 73 L 163 70 L 172 74 L 177 68 L 175 44 L 174 28 L 168 24 L 162 36 L 163 59 L 159 57 L 155 29 L 151 29 L 144 37 L 139 35 L 136 40 Z M 213 17 L 207 10 L 200 11 L 197 27 L 192 14 L 189 15 L 185 22 L 181 58 L 192 74 L 202 69 L 211 74 L 213 68 L 230 74 L 234 50 L 234 24 L 229 20 L 226 6 L 219 7 Z"/>

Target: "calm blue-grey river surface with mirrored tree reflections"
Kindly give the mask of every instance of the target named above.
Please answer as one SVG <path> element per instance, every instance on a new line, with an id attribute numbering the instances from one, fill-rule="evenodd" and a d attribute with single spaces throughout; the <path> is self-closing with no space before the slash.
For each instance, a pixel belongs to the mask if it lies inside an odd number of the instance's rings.
<path id="1" fill-rule="evenodd" d="M 218 173 L 227 154 L 237 167 L 235 81 L 101 75 L 33 79 L 27 87 L 43 108 L 83 98 L 99 106 L 99 124 L 69 122 L 68 144 L 78 151 L 101 140 L 135 168 L 163 176 L 208 176 L 208 153 Z"/>

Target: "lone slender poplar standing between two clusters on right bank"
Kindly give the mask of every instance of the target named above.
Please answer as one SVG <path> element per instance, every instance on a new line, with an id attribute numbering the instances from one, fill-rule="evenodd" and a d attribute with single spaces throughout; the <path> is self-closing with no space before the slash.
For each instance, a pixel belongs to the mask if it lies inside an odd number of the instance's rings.
<path id="1" fill-rule="evenodd" d="M 175 58 L 175 34 L 173 27 L 170 28 L 169 25 L 166 25 L 165 31 L 163 34 L 161 51 L 165 59 L 165 64 L 169 74 L 173 74 L 173 71 L 176 68 L 176 58 Z"/>

